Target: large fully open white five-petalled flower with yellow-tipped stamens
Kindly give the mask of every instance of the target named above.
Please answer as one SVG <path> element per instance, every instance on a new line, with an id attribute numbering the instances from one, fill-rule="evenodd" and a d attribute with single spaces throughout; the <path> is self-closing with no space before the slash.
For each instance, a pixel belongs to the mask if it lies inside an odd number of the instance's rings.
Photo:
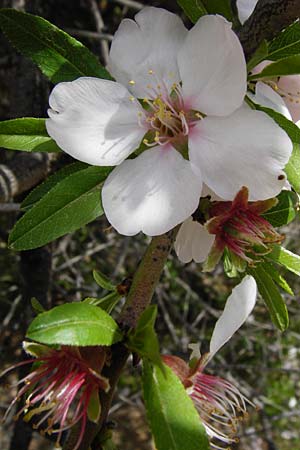
<path id="1" fill-rule="evenodd" d="M 280 192 L 291 143 L 266 114 L 242 107 L 246 63 L 225 19 L 204 16 L 187 31 L 176 15 L 145 8 L 121 22 L 109 69 L 116 81 L 58 84 L 46 125 L 73 157 L 118 165 L 102 201 L 121 234 L 183 222 L 203 182 L 225 199 L 243 185 L 253 200 Z M 124 161 L 142 142 L 146 151 Z"/>

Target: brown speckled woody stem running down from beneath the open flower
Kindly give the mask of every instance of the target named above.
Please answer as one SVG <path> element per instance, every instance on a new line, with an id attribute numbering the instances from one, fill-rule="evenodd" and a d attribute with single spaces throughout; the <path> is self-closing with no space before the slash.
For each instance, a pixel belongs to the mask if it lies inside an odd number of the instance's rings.
<path id="1" fill-rule="evenodd" d="M 155 287 L 167 261 L 178 228 L 176 227 L 161 236 L 155 236 L 146 249 L 134 274 L 127 300 L 118 320 L 123 329 L 134 328 L 143 311 L 151 303 Z M 102 373 L 109 379 L 111 389 L 107 393 L 100 391 L 101 417 L 97 424 L 88 422 L 78 450 L 88 450 L 95 436 L 99 435 L 105 428 L 115 387 L 130 354 L 127 347 L 122 343 L 113 345 L 111 350 L 111 364 L 106 366 Z M 78 439 L 78 433 L 79 427 L 75 426 L 67 438 L 63 450 L 73 450 L 74 442 L 76 443 Z"/>

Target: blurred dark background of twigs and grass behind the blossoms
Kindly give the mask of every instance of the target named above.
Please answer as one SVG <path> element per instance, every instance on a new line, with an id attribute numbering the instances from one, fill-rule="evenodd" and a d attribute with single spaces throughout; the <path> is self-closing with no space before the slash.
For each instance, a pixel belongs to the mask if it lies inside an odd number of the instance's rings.
<path id="1" fill-rule="evenodd" d="M 81 40 L 105 63 L 105 51 L 120 21 L 133 17 L 146 4 L 165 7 L 181 14 L 175 1 L 130 0 L 2 0 L 14 7 L 43 16 Z M 186 21 L 189 25 L 188 21 Z M 104 40 L 99 37 L 104 33 Z M 103 42 L 105 43 L 103 45 Z M 103 56 L 104 55 L 104 56 Z M 18 55 L 0 36 L 0 117 L 46 117 L 51 85 L 31 64 Z M 23 159 L 20 159 L 20 156 Z M 0 164 L 31 177 L 31 155 L 0 153 Z M 45 173 L 70 163 L 60 155 L 52 160 L 35 160 L 41 166 L 37 180 Z M 30 184 L 30 183 L 29 183 Z M 30 184 L 33 187 L 33 184 Z M 24 192 L 23 192 L 24 191 Z M 101 218 L 47 247 L 26 252 L 7 248 L 7 235 L 19 217 L 18 205 L 28 186 L 1 199 L 0 209 L 0 358 L 1 367 L 20 361 L 21 342 L 33 317 L 30 298 L 35 296 L 47 308 L 84 297 L 100 297 L 105 292 L 95 283 L 92 271 L 100 270 L 115 282 L 130 276 L 146 248 L 148 238 L 119 236 Z M 6 202 L 6 203 L 5 203 Z M 5 203 L 5 204 L 4 204 Z M 299 221 L 282 230 L 286 244 L 300 252 Z M 249 420 L 241 424 L 238 450 L 300 450 L 300 283 L 286 274 L 295 292 L 285 299 L 290 312 L 290 328 L 281 334 L 270 322 L 262 301 L 258 301 L 248 323 L 215 357 L 208 371 L 237 383 L 259 407 L 249 408 Z M 219 267 L 212 274 L 201 273 L 197 264 L 181 264 L 172 253 L 156 289 L 159 317 L 157 332 L 163 353 L 188 358 L 190 342 L 208 349 L 212 328 L 233 282 Z M 152 443 L 140 393 L 139 367 L 128 364 L 119 384 L 111 420 L 115 442 L 122 450 L 150 450 Z M 16 383 L 17 373 L 8 380 Z M 2 415 L 15 387 L 0 391 Z M 178 405 L 180 407 L 180 405 Z M 54 444 L 32 432 L 22 421 L 12 419 L 0 431 L 2 450 L 52 449 Z M 182 449 L 184 450 L 184 449 Z"/>

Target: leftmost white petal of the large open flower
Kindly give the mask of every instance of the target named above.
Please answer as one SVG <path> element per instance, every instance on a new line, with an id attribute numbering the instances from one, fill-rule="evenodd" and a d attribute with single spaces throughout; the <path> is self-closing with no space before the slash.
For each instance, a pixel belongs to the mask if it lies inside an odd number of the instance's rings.
<path id="1" fill-rule="evenodd" d="M 78 78 L 51 92 L 46 127 L 59 147 L 88 164 L 120 164 L 146 132 L 138 124 L 139 103 L 114 81 Z"/>

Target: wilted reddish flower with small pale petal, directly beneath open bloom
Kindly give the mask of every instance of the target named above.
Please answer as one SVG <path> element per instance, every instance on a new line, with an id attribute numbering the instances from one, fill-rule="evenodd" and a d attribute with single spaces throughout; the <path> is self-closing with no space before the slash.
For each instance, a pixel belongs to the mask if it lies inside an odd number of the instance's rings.
<path id="1" fill-rule="evenodd" d="M 175 250 L 179 259 L 205 262 L 211 270 L 225 249 L 235 262 L 254 264 L 269 253 L 281 236 L 262 214 L 277 203 L 276 198 L 248 202 L 248 189 L 243 187 L 232 202 L 213 202 L 205 225 L 189 218 L 180 228 Z M 238 264 L 239 265 L 239 264 Z"/>

